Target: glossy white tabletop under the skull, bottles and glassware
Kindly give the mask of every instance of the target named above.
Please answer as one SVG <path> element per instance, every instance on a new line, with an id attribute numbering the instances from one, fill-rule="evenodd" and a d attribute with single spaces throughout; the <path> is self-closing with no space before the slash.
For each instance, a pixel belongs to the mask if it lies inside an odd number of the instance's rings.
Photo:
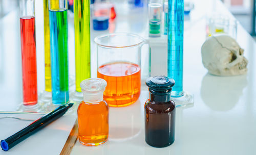
<path id="1" fill-rule="evenodd" d="M 206 36 L 205 16 L 212 12 L 223 13 L 230 18 L 233 16 L 218 0 L 196 0 L 194 3 L 195 10 L 191 12 L 190 20 L 184 24 L 184 90 L 194 94 L 195 104 L 190 108 L 177 109 L 174 144 L 165 148 L 154 148 L 145 143 L 143 106 L 148 92 L 144 89 L 135 104 L 124 108 L 110 108 L 108 142 L 97 147 L 88 147 L 77 142 L 71 154 L 256 154 L 255 42 L 239 24 L 237 40 L 245 49 L 245 57 L 249 61 L 248 73 L 231 77 L 208 74 L 201 60 L 201 45 Z M 44 33 L 42 9 L 40 5 L 36 7 L 40 92 L 44 90 Z M 115 29 L 92 31 L 92 39 L 110 31 L 143 35 L 147 24 L 143 17 L 146 17 L 146 14 L 121 11 L 123 12 L 120 14 L 117 12 L 117 20 L 112 25 Z M 13 110 L 18 102 L 22 101 L 19 23 L 18 18 L 13 20 L 11 17 L 17 18 L 17 13 L 12 12 L 0 20 L 0 111 Z M 95 44 L 92 43 L 92 77 L 96 77 L 94 47 Z M 72 24 L 69 24 L 69 61 L 70 74 L 74 75 Z M 2 126 L 0 130 L 1 128 Z M 49 143 L 51 144 L 51 141 Z M 56 148 L 51 145 L 49 149 Z M 0 151 L 1 153 L 5 152 Z"/>

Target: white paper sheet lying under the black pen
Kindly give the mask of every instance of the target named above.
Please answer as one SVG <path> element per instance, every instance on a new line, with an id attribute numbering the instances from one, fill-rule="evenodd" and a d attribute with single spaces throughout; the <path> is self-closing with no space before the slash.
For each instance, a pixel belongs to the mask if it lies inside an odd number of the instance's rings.
<path id="1" fill-rule="evenodd" d="M 8 138 L 33 122 L 2 118 L 6 116 L 36 120 L 43 115 L 0 114 L 0 140 Z M 62 116 L 7 152 L 0 150 L 0 154 L 59 154 L 66 143 L 75 119 L 76 116 Z"/>

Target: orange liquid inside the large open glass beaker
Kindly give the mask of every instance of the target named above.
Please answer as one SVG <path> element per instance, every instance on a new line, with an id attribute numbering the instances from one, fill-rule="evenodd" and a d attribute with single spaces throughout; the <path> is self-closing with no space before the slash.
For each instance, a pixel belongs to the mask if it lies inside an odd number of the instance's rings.
<path id="1" fill-rule="evenodd" d="M 133 104 L 140 96 L 140 67 L 129 62 L 114 62 L 98 68 L 98 77 L 107 82 L 104 99 L 111 107 Z"/>

